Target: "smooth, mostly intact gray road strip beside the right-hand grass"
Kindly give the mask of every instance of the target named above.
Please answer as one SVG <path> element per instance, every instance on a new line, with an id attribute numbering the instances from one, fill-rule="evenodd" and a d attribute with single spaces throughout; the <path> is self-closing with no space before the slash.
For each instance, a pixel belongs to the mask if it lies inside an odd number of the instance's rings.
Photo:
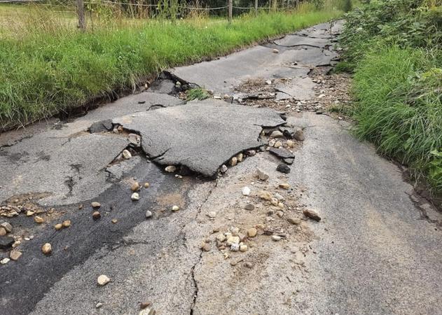
<path id="1" fill-rule="evenodd" d="M 401 170 L 328 116 L 311 126 L 290 181 L 322 221 L 310 276 L 296 309 L 305 314 L 441 314 L 442 230 L 421 216 Z M 441 220 L 438 214 L 438 220 Z"/>

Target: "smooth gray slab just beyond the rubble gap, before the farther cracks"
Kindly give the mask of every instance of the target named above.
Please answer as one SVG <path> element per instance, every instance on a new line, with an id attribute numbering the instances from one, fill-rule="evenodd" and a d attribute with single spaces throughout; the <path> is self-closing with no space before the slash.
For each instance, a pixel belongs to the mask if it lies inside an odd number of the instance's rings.
<path id="1" fill-rule="evenodd" d="M 247 78 L 306 76 L 308 69 L 291 66 L 292 59 L 290 55 L 275 54 L 270 48 L 255 46 L 212 62 L 181 66 L 171 72 L 189 83 L 228 93 Z"/>

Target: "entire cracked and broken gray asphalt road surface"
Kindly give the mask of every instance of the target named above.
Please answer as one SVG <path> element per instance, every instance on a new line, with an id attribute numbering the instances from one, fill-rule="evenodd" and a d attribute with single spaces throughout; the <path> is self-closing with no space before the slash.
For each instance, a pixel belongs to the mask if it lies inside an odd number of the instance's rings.
<path id="1" fill-rule="evenodd" d="M 171 80 L 159 80 L 85 116 L 0 134 L 0 202 L 45 211 L 42 224 L 25 213 L 0 217 L 22 237 L 23 253 L 0 265 L 0 314 L 139 314 L 141 302 L 156 314 L 442 314 L 442 216 L 401 169 L 342 120 L 236 104 L 235 87 L 253 78 L 290 78 L 276 86 L 284 97 L 315 99 L 309 73 L 336 62 L 339 27 L 317 25 L 170 70 L 229 102 L 184 104 Z M 109 120 L 125 130 L 88 132 Z M 296 156 L 289 174 L 276 171 L 282 161 L 262 146 L 282 124 L 305 135 L 294 146 L 272 139 Z M 130 145 L 129 132 L 141 147 Z M 121 157 L 125 148 L 130 160 Z M 240 152 L 244 160 L 228 165 Z M 169 164 L 177 173 L 164 171 Z M 130 199 L 134 181 L 150 184 L 138 202 Z M 262 190 L 284 208 L 262 200 Z M 102 204 L 99 220 L 92 201 Z M 71 227 L 56 231 L 63 220 Z M 247 251 L 217 248 L 220 233 L 254 227 Z M 0 251 L 0 260 L 7 255 Z M 111 282 L 97 286 L 100 274 Z"/>

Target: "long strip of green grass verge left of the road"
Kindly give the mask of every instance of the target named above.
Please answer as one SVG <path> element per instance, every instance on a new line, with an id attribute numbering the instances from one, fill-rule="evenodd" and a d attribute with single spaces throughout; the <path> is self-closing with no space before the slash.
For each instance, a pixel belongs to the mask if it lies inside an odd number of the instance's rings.
<path id="1" fill-rule="evenodd" d="M 203 57 L 215 57 L 264 38 L 338 18 L 324 9 L 245 15 L 226 21 L 151 21 L 137 27 L 30 31 L 0 41 L 0 130 L 53 116 L 141 77 Z"/>

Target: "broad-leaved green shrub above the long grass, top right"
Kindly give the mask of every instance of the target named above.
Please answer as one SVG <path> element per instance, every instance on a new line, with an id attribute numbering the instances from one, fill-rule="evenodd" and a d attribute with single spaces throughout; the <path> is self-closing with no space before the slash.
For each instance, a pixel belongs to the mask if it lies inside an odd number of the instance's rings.
<path id="1" fill-rule="evenodd" d="M 440 0 L 438 0 L 440 2 Z M 375 0 L 346 15 L 340 43 L 355 64 L 373 45 L 401 48 L 442 46 L 442 8 L 425 0 Z"/>

